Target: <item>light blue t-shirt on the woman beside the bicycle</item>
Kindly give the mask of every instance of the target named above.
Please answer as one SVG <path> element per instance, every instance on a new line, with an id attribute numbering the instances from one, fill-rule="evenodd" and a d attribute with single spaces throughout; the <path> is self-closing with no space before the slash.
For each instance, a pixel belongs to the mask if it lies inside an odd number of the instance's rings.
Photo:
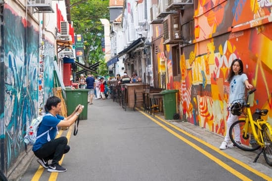
<path id="1" fill-rule="evenodd" d="M 241 75 L 234 75 L 229 82 L 229 97 L 228 103 L 231 104 L 233 101 L 242 103 L 245 98 L 245 81 L 247 80 L 247 76 L 245 73 Z M 239 100 L 239 101 L 235 101 Z M 234 103 L 233 102 L 233 103 Z"/>

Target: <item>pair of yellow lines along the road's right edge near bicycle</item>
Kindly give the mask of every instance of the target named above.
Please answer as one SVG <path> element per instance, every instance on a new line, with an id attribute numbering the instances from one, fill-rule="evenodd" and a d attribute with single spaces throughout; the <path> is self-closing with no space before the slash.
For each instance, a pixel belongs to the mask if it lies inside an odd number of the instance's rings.
<path id="1" fill-rule="evenodd" d="M 190 145 L 191 147 L 193 147 L 194 149 L 198 150 L 200 153 L 204 154 L 205 156 L 207 156 L 208 158 L 210 158 L 211 160 L 213 160 L 215 163 L 217 163 L 218 165 L 220 165 L 221 167 L 223 167 L 224 169 L 226 169 L 228 172 L 230 172 L 231 174 L 235 175 L 236 177 L 238 177 L 239 179 L 241 179 L 242 181 L 252 181 L 251 179 L 249 179 L 248 177 L 246 177 L 245 175 L 241 174 L 240 172 L 236 171 L 235 169 L 233 169 L 232 167 L 230 167 L 229 165 L 227 165 L 226 163 L 224 163 L 223 161 L 221 161 L 220 159 L 218 159 L 217 157 L 215 157 L 214 155 L 210 154 L 209 152 L 207 152 L 206 150 L 202 149 L 201 147 L 199 147 L 198 145 L 195 145 L 194 143 L 190 142 L 189 140 L 185 139 L 184 137 L 182 137 L 181 135 L 179 135 L 178 133 L 176 133 L 175 131 L 173 131 L 172 129 L 168 128 L 167 126 L 165 126 L 164 124 L 160 123 L 159 121 L 157 121 L 156 119 L 154 119 L 153 117 L 151 117 L 150 115 L 148 115 L 147 113 L 145 113 L 142 110 L 137 109 L 140 113 L 142 113 L 143 115 L 145 115 L 146 117 L 148 117 L 149 119 L 151 119 L 153 122 L 155 122 L 156 124 L 158 124 L 159 126 L 161 126 L 162 128 L 164 128 L 165 130 L 167 130 L 168 132 L 170 132 L 171 134 L 173 134 L 174 136 L 176 136 L 177 138 L 181 139 L 183 142 L 185 142 L 186 144 Z M 250 166 L 248 166 L 247 164 L 229 156 L 227 153 L 225 153 L 224 151 L 220 150 L 219 148 L 208 144 L 207 142 L 204 142 L 203 140 L 185 132 L 184 130 L 182 130 L 181 128 L 165 121 L 164 119 L 160 118 L 159 116 L 155 117 L 157 119 L 159 119 L 160 121 L 162 121 L 163 123 L 173 127 L 174 129 L 180 131 L 181 133 L 185 134 L 188 137 L 191 137 L 192 139 L 198 141 L 199 143 L 208 146 L 209 148 L 213 149 L 214 151 L 218 152 L 219 154 L 225 156 L 226 158 L 228 158 L 229 160 L 235 162 L 236 164 L 244 167 L 245 169 L 249 170 L 250 172 L 254 173 L 255 175 L 267 180 L 267 181 L 271 181 L 272 178 L 251 168 Z"/>

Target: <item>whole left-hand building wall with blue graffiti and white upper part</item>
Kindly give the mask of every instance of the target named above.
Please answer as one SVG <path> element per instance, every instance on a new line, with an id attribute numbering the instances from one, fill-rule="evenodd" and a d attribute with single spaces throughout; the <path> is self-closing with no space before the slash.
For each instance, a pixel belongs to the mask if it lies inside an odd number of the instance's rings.
<path id="1" fill-rule="evenodd" d="M 58 54 L 70 47 L 73 34 L 69 4 L 68 0 L 0 3 L 0 170 L 9 179 L 29 154 L 31 147 L 23 142 L 26 127 L 44 112 L 45 100 L 53 95 L 54 72 L 62 77 Z"/>

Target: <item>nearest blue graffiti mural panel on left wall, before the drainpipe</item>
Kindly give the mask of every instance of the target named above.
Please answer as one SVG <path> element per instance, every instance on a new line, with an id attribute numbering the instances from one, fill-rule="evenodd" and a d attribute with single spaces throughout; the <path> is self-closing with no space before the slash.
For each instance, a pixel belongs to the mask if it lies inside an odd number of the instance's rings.
<path id="1" fill-rule="evenodd" d="M 4 130 L 0 138 L 4 146 L 0 149 L 4 155 L 0 159 L 8 170 L 26 149 L 26 123 L 37 115 L 39 32 L 7 5 L 3 17 L 4 121 L 0 126 Z"/>

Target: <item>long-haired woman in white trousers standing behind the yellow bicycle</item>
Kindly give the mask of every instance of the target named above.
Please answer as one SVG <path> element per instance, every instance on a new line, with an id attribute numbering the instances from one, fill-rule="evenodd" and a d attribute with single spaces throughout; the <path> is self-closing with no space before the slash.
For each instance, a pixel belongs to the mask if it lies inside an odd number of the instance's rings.
<path id="1" fill-rule="evenodd" d="M 227 81 L 229 82 L 229 95 L 228 95 L 228 104 L 227 108 L 230 107 L 230 104 L 233 104 L 235 100 L 243 99 L 245 97 L 245 88 L 251 89 L 253 86 L 248 82 L 247 75 L 243 72 L 243 62 L 240 59 L 235 59 L 231 63 L 229 68 L 229 74 L 227 77 Z M 234 101 L 234 102 L 233 102 Z M 227 133 L 224 141 L 220 145 L 220 149 L 227 149 L 228 147 L 233 147 L 233 144 L 228 144 L 230 141 L 229 138 L 229 127 L 238 120 L 237 115 L 233 115 L 231 111 L 229 111 L 229 115 L 227 118 Z M 237 125 L 238 126 L 238 125 Z M 235 142 L 241 143 L 240 140 L 240 128 L 234 127 L 234 135 Z"/>

